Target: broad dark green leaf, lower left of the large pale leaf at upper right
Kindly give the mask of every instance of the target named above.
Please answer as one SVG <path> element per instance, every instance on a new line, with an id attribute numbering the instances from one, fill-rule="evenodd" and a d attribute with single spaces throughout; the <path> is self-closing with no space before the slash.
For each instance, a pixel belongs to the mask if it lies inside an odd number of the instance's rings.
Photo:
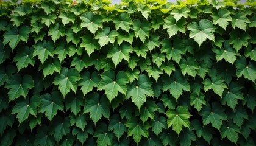
<path id="1" fill-rule="evenodd" d="M 175 39 L 173 43 L 169 39 L 164 39 L 161 41 L 162 48 L 161 53 L 166 54 L 167 60 L 174 60 L 179 64 L 181 60 L 181 55 L 185 54 L 185 46 L 183 41 L 180 39 Z"/>

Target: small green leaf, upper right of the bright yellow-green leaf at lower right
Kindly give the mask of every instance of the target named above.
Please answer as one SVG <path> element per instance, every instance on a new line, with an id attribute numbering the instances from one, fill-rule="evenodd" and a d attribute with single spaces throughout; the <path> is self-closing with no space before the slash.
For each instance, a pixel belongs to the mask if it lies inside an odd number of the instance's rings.
<path id="1" fill-rule="evenodd" d="M 194 105 L 194 108 L 196 108 L 199 113 L 199 111 L 202 109 L 202 105 L 206 105 L 205 95 L 202 93 L 199 93 L 199 95 L 197 95 L 195 92 L 193 92 L 190 95 L 190 105 Z"/>

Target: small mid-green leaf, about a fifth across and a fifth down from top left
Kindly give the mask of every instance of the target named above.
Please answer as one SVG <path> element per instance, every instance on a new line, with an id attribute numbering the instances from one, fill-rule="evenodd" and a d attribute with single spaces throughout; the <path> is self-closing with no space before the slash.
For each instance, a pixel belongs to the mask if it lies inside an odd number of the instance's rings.
<path id="1" fill-rule="evenodd" d="M 51 36 L 52 40 L 55 41 L 60 38 L 60 36 L 64 37 L 65 28 L 62 24 L 55 23 L 54 27 L 50 27 L 48 35 Z"/>

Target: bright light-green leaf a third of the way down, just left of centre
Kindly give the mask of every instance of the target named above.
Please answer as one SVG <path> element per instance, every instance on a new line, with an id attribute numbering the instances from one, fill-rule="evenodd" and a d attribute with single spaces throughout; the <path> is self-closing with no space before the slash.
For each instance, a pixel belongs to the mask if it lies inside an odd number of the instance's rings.
<path id="1" fill-rule="evenodd" d="M 132 45 L 129 43 L 122 43 L 120 46 L 115 44 L 108 51 L 107 58 L 112 58 L 116 67 L 123 59 L 129 61 L 130 53 L 132 53 Z"/>

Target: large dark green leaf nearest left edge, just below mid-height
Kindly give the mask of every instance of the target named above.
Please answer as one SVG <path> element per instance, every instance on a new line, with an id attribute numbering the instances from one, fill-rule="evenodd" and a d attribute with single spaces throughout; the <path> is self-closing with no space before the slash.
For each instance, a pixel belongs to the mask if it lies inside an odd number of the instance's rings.
<path id="1" fill-rule="evenodd" d="M 8 92 L 9 101 L 12 101 L 20 96 L 26 97 L 29 94 L 29 89 L 34 87 L 34 80 L 30 75 L 15 74 L 8 78 L 5 88 L 10 89 Z"/>

